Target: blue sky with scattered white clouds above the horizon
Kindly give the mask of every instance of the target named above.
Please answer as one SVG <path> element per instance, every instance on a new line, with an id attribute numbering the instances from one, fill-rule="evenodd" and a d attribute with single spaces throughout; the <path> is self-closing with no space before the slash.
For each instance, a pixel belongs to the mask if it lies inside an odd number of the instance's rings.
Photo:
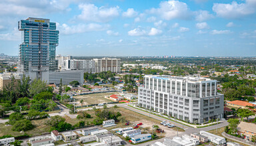
<path id="1" fill-rule="evenodd" d="M 57 23 L 56 54 L 256 56 L 256 0 L 1 0 L 0 52 L 19 54 L 27 17 Z"/>

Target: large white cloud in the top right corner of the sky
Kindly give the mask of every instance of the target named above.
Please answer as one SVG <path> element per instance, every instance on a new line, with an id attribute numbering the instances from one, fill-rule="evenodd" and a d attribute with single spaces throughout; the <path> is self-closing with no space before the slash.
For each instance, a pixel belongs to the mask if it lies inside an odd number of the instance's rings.
<path id="1" fill-rule="evenodd" d="M 214 3 L 213 11 L 219 17 L 239 19 L 255 13 L 256 1 L 245 0 L 245 3 L 237 3 L 236 1 L 232 3 Z"/>

